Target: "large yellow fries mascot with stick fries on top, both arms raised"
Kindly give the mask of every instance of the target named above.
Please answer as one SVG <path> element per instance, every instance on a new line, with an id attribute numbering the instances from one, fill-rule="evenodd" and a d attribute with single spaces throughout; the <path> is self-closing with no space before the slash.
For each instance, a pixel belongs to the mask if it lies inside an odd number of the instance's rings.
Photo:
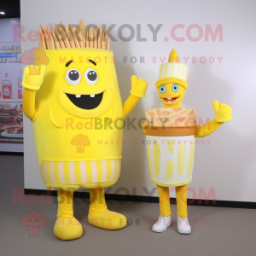
<path id="1" fill-rule="evenodd" d="M 79 188 L 90 189 L 90 224 L 122 229 L 126 218 L 108 210 L 104 188 L 119 179 L 122 120 L 145 96 L 148 83 L 132 76 L 131 96 L 122 105 L 108 29 L 103 32 L 102 26 L 87 28 L 81 20 L 76 29 L 61 23 L 48 32 L 39 26 L 38 34 L 38 51 L 48 61 L 41 65 L 35 56 L 38 66 L 25 68 L 23 103 L 32 120 L 41 177 L 58 193 L 55 236 L 82 235 L 73 217 L 73 191 Z"/>

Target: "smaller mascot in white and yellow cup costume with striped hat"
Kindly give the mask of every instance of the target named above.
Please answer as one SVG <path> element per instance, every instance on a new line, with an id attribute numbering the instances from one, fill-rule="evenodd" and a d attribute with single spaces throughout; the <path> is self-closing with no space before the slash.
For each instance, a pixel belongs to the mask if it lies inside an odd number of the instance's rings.
<path id="1" fill-rule="evenodd" d="M 188 88 L 187 74 L 188 67 L 179 63 L 177 52 L 172 49 L 168 63 L 160 66 L 159 80 L 155 83 L 163 108 L 146 110 L 146 116 L 148 113 L 148 117 L 152 117 L 152 121 L 149 119 L 148 124 L 143 125 L 147 143 L 148 139 L 154 136 L 154 143 L 147 145 L 148 164 L 151 180 L 156 183 L 160 198 L 160 217 L 153 225 L 155 232 L 163 232 L 171 225 L 169 187 L 176 187 L 177 230 L 181 234 L 191 233 L 187 212 L 187 184 L 192 180 L 195 137 L 207 137 L 231 119 L 230 106 L 214 101 L 212 107 L 215 118 L 206 125 L 196 125 L 195 109 L 181 107 L 183 96 Z M 150 126 L 154 125 L 156 115 L 159 117 L 172 115 L 174 120 L 169 120 L 170 123 L 167 124 L 172 129 L 168 130 L 167 127 L 164 129 L 159 125 L 161 130 L 157 134 L 158 131 L 154 131 Z M 163 118 L 162 121 L 165 122 L 166 119 Z M 160 144 L 160 138 L 165 138 L 163 136 L 167 136 L 168 132 L 178 140 L 174 142 L 170 139 L 168 143 Z M 184 136 L 186 140 L 183 139 Z"/>

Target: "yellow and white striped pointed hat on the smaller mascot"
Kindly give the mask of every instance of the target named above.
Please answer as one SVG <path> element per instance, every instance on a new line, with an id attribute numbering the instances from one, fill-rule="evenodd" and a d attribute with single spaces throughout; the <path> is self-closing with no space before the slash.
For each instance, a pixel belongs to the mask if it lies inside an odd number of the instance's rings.
<path id="1" fill-rule="evenodd" d="M 176 49 L 172 49 L 167 63 L 160 65 L 158 80 L 155 83 L 156 88 L 162 84 L 180 84 L 185 89 L 188 88 L 187 82 L 188 66 L 179 63 Z"/>

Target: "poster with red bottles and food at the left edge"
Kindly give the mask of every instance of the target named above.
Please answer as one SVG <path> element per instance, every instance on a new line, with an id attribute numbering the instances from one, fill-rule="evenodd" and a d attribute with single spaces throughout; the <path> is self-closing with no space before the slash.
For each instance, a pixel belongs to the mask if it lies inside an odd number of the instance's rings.
<path id="1" fill-rule="evenodd" d="M 0 151 L 23 151 L 20 42 L 0 42 Z"/>

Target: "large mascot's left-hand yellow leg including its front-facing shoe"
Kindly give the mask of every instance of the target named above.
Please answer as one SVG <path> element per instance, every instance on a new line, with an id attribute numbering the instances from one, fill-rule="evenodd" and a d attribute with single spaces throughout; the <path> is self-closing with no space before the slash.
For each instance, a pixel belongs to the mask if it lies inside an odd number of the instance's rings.
<path id="1" fill-rule="evenodd" d="M 77 239 L 83 234 L 82 225 L 73 217 L 73 192 L 58 190 L 58 213 L 54 232 L 61 240 Z"/>

